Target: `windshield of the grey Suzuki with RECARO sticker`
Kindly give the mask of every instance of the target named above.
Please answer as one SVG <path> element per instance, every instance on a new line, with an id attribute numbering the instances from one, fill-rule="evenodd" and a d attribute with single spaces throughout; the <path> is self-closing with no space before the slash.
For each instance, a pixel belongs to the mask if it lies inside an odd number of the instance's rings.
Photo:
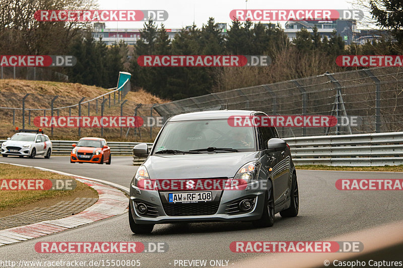
<path id="1" fill-rule="evenodd" d="M 168 122 L 155 145 L 154 153 L 165 150 L 232 148 L 234 151 L 254 151 L 253 127 L 231 127 L 227 119 Z M 213 151 L 213 150 L 209 150 Z M 214 150 L 215 152 L 231 152 Z M 207 153 L 208 151 L 201 151 Z"/>

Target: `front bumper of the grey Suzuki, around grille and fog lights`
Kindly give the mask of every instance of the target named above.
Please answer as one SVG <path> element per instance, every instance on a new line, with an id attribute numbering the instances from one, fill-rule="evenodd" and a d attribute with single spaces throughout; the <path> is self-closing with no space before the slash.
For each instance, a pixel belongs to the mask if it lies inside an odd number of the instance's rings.
<path id="1" fill-rule="evenodd" d="M 257 183 L 257 182 L 256 182 Z M 246 188 L 248 189 L 248 188 Z M 265 190 L 248 189 L 248 190 L 224 190 L 218 202 L 216 213 L 209 215 L 194 215 L 194 216 L 168 216 L 167 211 L 160 198 L 158 191 L 149 191 L 139 189 L 133 185 L 130 186 L 130 209 L 133 220 L 137 224 L 159 224 L 159 223 L 174 223 L 174 222 L 215 222 L 215 221 L 253 221 L 261 217 L 264 207 Z M 198 191 L 200 192 L 200 191 Z M 228 208 L 231 204 L 243 199 L 254 200 L 253 207 L 246 212 L 238 212 L 234 214 L 228 213 Z M 151 207 L 153 216 L 140 215 L 135 208 L 136 204 L 144 203 Z M 204 203 L 204 202 L 203 202 Z M 197 203 L 198 204 L 198 203 Z M 181 206 L 191 204 L 180 204 Z M 156 216 L 158 215 L 158 216 Z"/>

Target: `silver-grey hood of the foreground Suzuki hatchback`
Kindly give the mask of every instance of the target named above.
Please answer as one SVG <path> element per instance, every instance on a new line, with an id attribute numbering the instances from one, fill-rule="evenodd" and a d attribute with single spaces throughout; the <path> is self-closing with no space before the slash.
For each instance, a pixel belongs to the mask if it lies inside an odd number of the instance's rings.
<path id="1" fill-rule="evenodd" d="M 143 165 L 152 180 L 170 178 L 233 177 L 259 152 L 150 155 Z"/>

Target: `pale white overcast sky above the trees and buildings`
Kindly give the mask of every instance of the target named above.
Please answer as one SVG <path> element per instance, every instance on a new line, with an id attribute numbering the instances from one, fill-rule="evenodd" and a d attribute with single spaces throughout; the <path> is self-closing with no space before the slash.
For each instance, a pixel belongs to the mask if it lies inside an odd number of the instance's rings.
<path id="1" fill-rule="evenodd" d="M 353 2 L 351 2 L 353 1 Z M 216 23 L 231 25 L 229 13 L 234 9 L 357 9 L 355 0 L 98 0 L 100 10 L 166 10 L 168 20 L 166 29 L 177 29 L 192 25 L 193 21 L 200 28 L 209 17 Z M 357 0 L 358 1 L 358 0 Z M 284 28 L 285 22 L 280 22 Z M 143 28 L 143 22 L 107 22 L 106 28 Z M 160 25 L 160 23 L 158 23 Z"/>

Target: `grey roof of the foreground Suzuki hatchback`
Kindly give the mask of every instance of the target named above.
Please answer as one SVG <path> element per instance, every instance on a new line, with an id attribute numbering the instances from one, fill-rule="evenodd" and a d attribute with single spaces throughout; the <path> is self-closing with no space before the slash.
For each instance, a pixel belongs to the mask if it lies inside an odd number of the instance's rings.
<path id="1" fill-rule="evenodd" d="M 255 113 L 261 113 L 261 112 L 247 111 L 247 110 L 218 110 L 218 111 L 194 112 L 173 116 L 169 119 L 169 122 L 186 121 L 186 120 L 204 120 L 204 119 L 228 119 L 230 116 L 248 116 Z"/>

